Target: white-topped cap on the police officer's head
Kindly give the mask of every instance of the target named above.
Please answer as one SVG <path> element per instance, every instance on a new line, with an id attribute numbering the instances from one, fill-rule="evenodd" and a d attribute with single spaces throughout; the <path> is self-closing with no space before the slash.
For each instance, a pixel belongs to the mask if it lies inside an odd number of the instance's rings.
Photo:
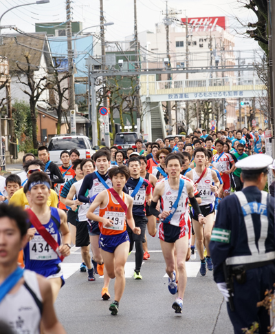
<path id="1" fill-rule="evenodd" d="M 236 162 L 235 166 L 243 171 L 254 173 L 265 171 L 272 164 L 273 159 L 267 154 L 253 154 Z"/>

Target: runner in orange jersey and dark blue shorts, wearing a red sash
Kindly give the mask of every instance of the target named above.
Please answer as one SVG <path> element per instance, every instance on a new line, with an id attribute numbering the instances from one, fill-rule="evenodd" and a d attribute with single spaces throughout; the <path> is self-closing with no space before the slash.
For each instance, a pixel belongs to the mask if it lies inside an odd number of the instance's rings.
<path id="1" fill-rule="evenodd" d="M 115 278 L 115 299 L 109 307 L 111 315 L 118 313 L 119 302 L 125 287 L 124 266 L 130 245 L 125 218 L 133 233 L 137 235 L 141 233 L 140 227 L 135 227 L 132 216 L 133 198 L 122 191 L 129 177 L 129 168 L 126 166 L 109 169 L 113 188 L 101 191 L 87 213 L 90 220 L 99 222 L 99 244 L 104 267 L 109 277 Z M 99 215 L 96 215 L 94 212 L 98 207 L 100 211 Z"/>

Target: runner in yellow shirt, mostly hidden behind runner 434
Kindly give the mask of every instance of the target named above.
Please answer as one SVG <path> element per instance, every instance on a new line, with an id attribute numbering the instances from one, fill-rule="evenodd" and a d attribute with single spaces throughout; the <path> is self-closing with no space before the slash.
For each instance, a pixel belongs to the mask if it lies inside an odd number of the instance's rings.
<path id="1" fill-rule="evenodd" d="M 41 160 L 30 160 L 25 162 L 25 172 L 27 173 L 27 177 L 29 178 L 32 173 L 35 171 L 43 171 L 45 169 L 45 165 L 42 163 Z M 9 204 L 16 205 L 18 207 L 22 207 L 23 209 L 28 209 L 30 207 L 29 201 L 24 194 L 24 189 L 20 188 L 17 190 L 10 198 Z M 47 199 L 48 207 L 57 207 L 58 205 L 58 198 L 56 192 L 51 189 L 50 196 Z"/>

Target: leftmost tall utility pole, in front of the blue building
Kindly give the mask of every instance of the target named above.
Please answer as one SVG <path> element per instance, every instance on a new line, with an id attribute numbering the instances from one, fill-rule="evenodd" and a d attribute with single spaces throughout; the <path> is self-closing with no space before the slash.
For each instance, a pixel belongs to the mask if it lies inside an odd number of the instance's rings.
<path id="1" fill-rule="evenodd" d="M 67 48 L 68 48 L 68 72 L 69 76 L 69 111 L 75 108 L 75 94 L 74 94 L 74 50 L 72 50 L 72 17 L 71 17 L 71 0 L 66 0 L 67 12 Z"/>

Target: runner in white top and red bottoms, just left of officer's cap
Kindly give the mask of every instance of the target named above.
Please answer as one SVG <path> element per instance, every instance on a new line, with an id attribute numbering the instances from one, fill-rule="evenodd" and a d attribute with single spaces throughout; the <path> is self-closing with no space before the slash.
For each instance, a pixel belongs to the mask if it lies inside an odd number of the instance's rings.
<path id="1" fill-rule="evenodd" d="M 212 163 L 214 167 L 217 167 L 221 171 L 221 178 L 223 180 L 223 196 L 226 197 L 230 195 L 230 174 L 235 169 L 235 162 L 230 154 L 223 152 L 223 141 L 216 141 L 217 154 L 212 157 Z M 229 163 L 232 163 L 232 167 L 229 167 Z"/>

